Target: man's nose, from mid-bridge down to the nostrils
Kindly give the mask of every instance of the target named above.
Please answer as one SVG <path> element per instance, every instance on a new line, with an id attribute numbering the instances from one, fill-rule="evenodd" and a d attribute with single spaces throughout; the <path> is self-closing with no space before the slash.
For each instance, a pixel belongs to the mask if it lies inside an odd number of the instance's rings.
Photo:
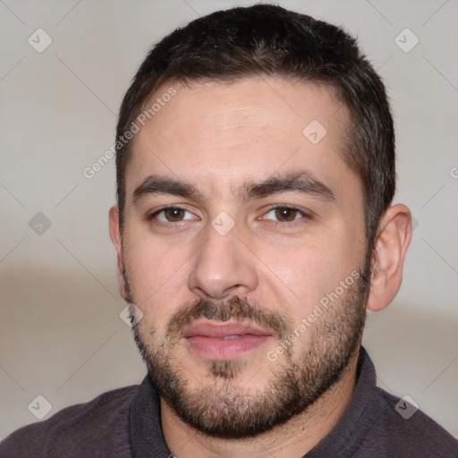
<path id="1" fill-rule="evenodd" d="M 189 289 L 203 299 L 224 299 L 256 289 L 256 257 L 239 238 L 236 228 L 221 235 L 209 225 L 205 235 L 205 242 L 193 258 Z"/>

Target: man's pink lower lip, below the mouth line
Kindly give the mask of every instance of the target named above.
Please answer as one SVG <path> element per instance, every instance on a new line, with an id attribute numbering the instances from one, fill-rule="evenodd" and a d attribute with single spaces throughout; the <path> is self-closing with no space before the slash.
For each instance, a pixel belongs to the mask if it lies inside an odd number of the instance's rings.
<path id="1" fill-rule="evenodd" d="M 191 350 L 208 360 L 233 360 L 264 344 L 268 335 L 241 335 L 223 339 L 207 335 L 193 335 L 186 340 Z"/>

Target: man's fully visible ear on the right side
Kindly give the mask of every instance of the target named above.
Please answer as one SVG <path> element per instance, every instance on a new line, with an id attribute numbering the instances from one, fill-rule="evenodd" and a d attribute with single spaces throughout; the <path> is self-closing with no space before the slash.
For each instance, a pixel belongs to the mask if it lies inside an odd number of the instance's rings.
<path id="1" fill-rule="evenodd" d="M 368 310 L 383 310 L 393 301 L 403 280 L 403 262 L 410 242 L 411 212 L 405 205 L 392 205 L 378 225 Z"/>

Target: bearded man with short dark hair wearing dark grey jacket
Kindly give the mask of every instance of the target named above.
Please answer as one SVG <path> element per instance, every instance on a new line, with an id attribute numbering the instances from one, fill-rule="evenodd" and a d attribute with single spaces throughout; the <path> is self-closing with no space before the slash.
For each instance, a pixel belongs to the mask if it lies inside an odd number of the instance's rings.
<path id="1" fill-rule="evenodd" d="M 411 216 L 351 37 L 266 4 L 193 21 L 141 65 L 116 149 L 110 234 L 148 377 L 20 429 L 2 458 L 458 456 L 360 346 Z"/>

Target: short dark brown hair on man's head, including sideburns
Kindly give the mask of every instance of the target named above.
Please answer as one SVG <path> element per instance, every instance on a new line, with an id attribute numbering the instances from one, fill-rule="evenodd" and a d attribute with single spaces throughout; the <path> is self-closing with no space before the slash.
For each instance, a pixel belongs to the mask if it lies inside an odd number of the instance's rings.
<path id="1" fill-rule="evenodd" d="M 273 4 L 191 21 L 158 42 L 140 65 L 123 98 L 116 131 L 121 227 L 132 143 L 125 134 L 156 89 L 165 81 L 235 82 L 259 76 L 324 85 L 346 112 L 341 154 L 362 184 L 372 251 L 395 190 L 394 127 L 385 86 L 355 38 L 342 28 Z"/>

